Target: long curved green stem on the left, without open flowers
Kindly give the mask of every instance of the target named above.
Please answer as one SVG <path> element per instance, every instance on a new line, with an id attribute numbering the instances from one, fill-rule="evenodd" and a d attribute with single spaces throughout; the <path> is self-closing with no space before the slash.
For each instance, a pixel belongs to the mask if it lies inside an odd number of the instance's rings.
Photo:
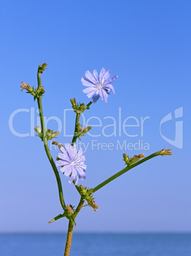
<path id="1" fill-rule="evenodd" d="M 38 78 L 38 87 L 41 87 L 41 73 L 39 72 L 39 70 L 37 73 L 37 78 Z M 57 171 L 57 167 L 55 166 L 55 162 L 52 159 L 52 155 L 50 154 L 48 144 L 47 144 L 46 129 L 45 129 L 45 123 L 44 123 L 44 118 L 43 118 L 43 107 L 42 107 L 41 97 L 38 97 L 37 101 L 38 101 L 38 109 L 39 109 L 39 118 L 41 121 L 41 130 L 43 132 L 43 143 L 44 143 L 44 147 L 45 147 L 45 152 L 48 157 L 48 160 L 50 161 L 50 164 L 52 166 L 53 172 L 54 172 L 56 180 L 57 180 L 57 185 L 59 188 L 60 204 L 61 204 L 63 210 L 65 210 L 66 204 L 64 203 L 64 196 L 63 196 L 63 192 L 62 192 L 62 183 L 60 181 L 59 172 Z"/>

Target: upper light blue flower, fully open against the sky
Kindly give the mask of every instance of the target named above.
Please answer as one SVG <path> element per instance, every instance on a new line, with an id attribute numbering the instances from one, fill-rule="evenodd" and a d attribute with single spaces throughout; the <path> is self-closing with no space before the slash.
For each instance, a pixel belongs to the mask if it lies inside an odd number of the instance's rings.
<path id="1" fill-rule="evenodd" d="M 113 94 L 115 94 L 115 90 L 113 88 L 112 83 L 118 76 L 112 76 L 111 78 L 111 71 L 102 68 L 100 75 L 98 76 L 97 70 L 94 69 L 93 74 L 90 71 L 85 72 L 86 78 L 82 77 L 81 82 L 83 85 L 87 86 L 88 88 L 84 89 L 83 92 L 87 94 L 88 98 L 92 97 L 92 102 L 96 103 L 96 101 L 101 97 L 104 99 L 105 102 L 108 100 L 108 95 L 110 94 L 111 90 Z"/>

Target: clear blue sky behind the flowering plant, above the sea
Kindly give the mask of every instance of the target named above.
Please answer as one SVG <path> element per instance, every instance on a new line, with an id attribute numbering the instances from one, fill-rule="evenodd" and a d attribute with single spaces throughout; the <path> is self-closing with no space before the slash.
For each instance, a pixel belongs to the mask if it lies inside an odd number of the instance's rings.
<path id="1" fill-rule="evenodd" d="M 36 87 L 36 71 L 41 62 L 48 64 L 42 75 L 45 87 L 45 116 L 61 120 L 60 143 L 70 142 L 75 115 L 69 99 L 88 103 L 82 92 L 85 71 L 111 69 L 118 75 L 113 82 L 115 95 L 108 103 L 97 101 L 85 112 L 101 118 L 104 125 L 117 122 L 117 136 L 81 141 L 113 143 L 113 150 L 88 148 L 85 152 L 87 179 L 82 185 L 95 187 L 124 168 L 122 154 L 150 155 L 172 148 L 170 157 L 156 157 L 120 176 L 97 191 L 99 210 L 83 208 L 76 218 L 77 232 L 190 232 L 190 1 L 3 1 L 1 3 L 1 178 L 0 232 L 66 232 L 67 220 L 53 224 L 48 220 L 62 213 L 55 176 L 46 158 L 43 144 L 34 136 L 37 103 L 20 92 L 20 82 Z M 183 107 L 183 117 L 174 119 L 174 110 Z M 11 133 L 29 132 L 20 138 Z M 140 127 L 126 127 L 129 137 L 118 129 L 118 111 L 122 122 L 127 117 L 149 117 Z M 183 148 L 160 136 L 160 121 L 172 113 L 173 120 L 162 125 L 162 134 L 175 138 L 175 121 L 183 121 Z M 34 118 L 33 118 L 34 117 Z M 31 124 L 30 124 L 31 120 Z M 33 124 L 34 122 L 34 124 Z M 135 124 L 130 119 L 126 124 Z M 90 124 L 98 124 L 97 120 Z M 181 124 L 181 123 L 179 123 Z M 66 129 L 64 129 L 64 125 Z M 92 134 L 103 127 L 94 127 Z M 51 120 L 48 128 L 57 131 Z M 105 129 L 111 134 L 113 127 Z M 181 136 L 181 134 L 178 134 Z M 97 142 L 96 142 L 97 141 Z M 149 150 L 117 150 L 117 143 L 148 143 Z M 126 143 L 126 144 L 127 144 Z M 51 150 L 55 159 L 58 150 Z M 67 204 L 77 205 L 78 193 L 60 173 Z"/>

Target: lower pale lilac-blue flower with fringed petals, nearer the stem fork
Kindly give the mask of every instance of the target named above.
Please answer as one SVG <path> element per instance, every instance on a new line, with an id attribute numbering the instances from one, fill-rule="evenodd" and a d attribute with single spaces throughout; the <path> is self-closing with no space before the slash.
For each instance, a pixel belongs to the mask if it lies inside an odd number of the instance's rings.
<path id="1" fill-rule="evenodd" d="M 78 180 L 81 178 L 84 180 L 86 165 L 84 164 L 85 156 L 83 155 L 83 150 L 76 149 L 76 143 L 74 146 L 71 146 L 69 143 L 66 143 L 64 146 L 60 147 L 62 153 L 59 153 L 59 159 L 56 162 L 56 166 L 61 166 L 60 171 L 64 173 L 67 177 L 71 175 L 68 182 L 71 183 L 75 181 L 75 185 L 78 185 Z"/>

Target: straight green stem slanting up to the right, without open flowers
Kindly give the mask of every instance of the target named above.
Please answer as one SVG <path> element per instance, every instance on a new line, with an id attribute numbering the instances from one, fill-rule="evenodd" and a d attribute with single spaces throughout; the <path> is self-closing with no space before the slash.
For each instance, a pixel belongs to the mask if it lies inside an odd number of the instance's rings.
<path id="1" fill-rule="evenodd" d="M 110 178 L 108 178 L 107 180 L 103 181 L 102 183 L 100 183 L 99 185 L 97 185 L 97 187 L 95 187 L 93 189 L 93 192 L 99 190 L 100 188 L 104 187 L 105 185 L 107 185 L 108 183 L 110 183 L 112 180 L 115 180 L 116 178 L 118 178 L 119 176 L 121 176 L 122 174 L 126 173 L 127 171 L 129 171 L 130 169 L 138 166 L 139 164 L 142 164 L 143 162 L 146 162 L 149 159 L 152 159 L 153 157 L 157 157 L 157 155 L 160 155 L 159 152 L 155 152 L 152 153 L 152 155 L 149 155 L 148 157 L 145 157 L 142 160 L 139 160 L 139 162 L 136 162 L 135 164 L 132 164 L 132 166 L 127 166 L 124 169 L 122 169 L 121 171 L 119 171 L 118 173 L 114 174 L 113 176 L 111 176 Z"/>

